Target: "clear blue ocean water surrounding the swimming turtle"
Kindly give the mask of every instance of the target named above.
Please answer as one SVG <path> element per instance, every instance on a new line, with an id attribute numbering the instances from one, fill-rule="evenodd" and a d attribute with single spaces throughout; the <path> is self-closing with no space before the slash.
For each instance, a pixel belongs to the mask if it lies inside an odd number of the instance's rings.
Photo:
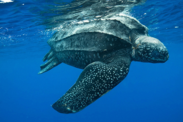
<path id="1" fill-rule="evenodd" d="M 149 35 L 165 44 L 169 60 L 163 64 L 132 62 L 123 82 L 69 115 L 51 105 L 82 70 L 61 64 L 37 74 L 50 49 L 46 42 L 54 33 L 42 23 L 53 16 L 45 10 L 59 2 L 0 3 L 0 122 L 183 122 L 182 0 L 147 0 L 130 13 L 149 28 Z"/>

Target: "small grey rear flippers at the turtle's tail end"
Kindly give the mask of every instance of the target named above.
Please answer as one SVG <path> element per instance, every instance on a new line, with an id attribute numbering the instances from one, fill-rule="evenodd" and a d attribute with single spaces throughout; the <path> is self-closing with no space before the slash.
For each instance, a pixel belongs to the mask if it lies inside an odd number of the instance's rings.
<path id="1" fill-rule="evenodd" d="M 41 70 L 38 74 L 42 74 L 44 72 L 47 72 L 48 70 L 52 69 L 53 67 L 57 66 L 61 62 L 57 59 L 57 57 L 54 55 L 54 52 L 50 50 L 43 58 L 43 61 L 47 62 L 40 66 Z"/>

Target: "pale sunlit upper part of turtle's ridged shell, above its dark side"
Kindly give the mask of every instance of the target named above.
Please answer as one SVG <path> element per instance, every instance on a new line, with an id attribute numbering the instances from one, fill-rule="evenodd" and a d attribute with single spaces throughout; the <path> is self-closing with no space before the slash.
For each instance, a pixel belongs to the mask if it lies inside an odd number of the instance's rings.
<path id="1" fill-rule="evenodd" d="M 55 41 L 62 41 L 70 36 L 86 32 L 99 32 L 116 36 L 131 44 L 129 36 L 133 30 L 147 35 L 146 26 L 142 25 L 133 17 L 120 14 L 110 18 L 80 21 L 68 27 L 60 28 L 59 31 L 48 40 L 48 44 L 51 46 L 54 45 Z"/>

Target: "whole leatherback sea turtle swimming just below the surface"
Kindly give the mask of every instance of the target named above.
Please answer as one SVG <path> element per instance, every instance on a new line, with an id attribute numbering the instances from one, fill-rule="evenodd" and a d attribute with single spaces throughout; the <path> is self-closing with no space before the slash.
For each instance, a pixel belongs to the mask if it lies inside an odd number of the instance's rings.
<path id="1" fill-rule="evenodd" d="M 84 70 L 52 107 L 60 113 L 78 112 L 118 85 L 132 61 L 166 62 L 166 47 L 147 32 L 135 18 L 123 14 L 85 20 L 56 32 L 48 40 L 51 50 L 39 74 L 62 62 Z"/>

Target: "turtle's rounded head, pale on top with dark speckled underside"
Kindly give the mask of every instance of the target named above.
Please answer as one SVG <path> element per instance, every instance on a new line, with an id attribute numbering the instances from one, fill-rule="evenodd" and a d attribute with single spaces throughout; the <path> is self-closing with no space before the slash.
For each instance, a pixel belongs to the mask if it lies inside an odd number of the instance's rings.
<path id="1" fill-rule="evenodd" d="M 135 61 L 164 63 L 168 60 L 167 48 L 158 39 L 139 36 L 134 43 L 132 58 Z"/>

